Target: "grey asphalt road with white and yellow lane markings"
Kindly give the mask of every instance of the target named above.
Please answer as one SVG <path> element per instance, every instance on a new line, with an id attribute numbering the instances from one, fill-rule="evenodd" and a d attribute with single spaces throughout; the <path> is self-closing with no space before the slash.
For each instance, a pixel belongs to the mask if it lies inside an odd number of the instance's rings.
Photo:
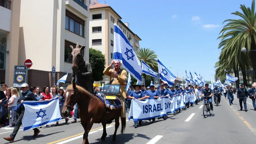
<path id="1" fill-rule="evenodd" d="M 133 120 L 126 121 L 123 135 L 117 132 L 116 144 L 248 144 L 256 143 L 256 111 L 253 110 L 251 99 L 247 99 L 247 109 L 240 111 L 236 99 L 233 105 L 221 98 L 218 107 L 214 105 L 213 115 L 203 117 L 203 102 L 181 113 L 168 115 L 167 120 L 156 120 L 155 123 L 143 121 L 142 126 L 133 127 Z M 127 115 L 128 117 L 128 115 Z M 82 125 L 68 123 L 60 126 L 43 127 L 37 138 L 32 138 L 33 130 L 24 134 L 20 130 L 15 138 L 16 144 L 80 144 L 84 133 Z M 71 121 L 71 120 L 70 120 Z M 1 128 L 0 135 L 9 136 L 12 129 Z M 99 141 L 102 135 L 101 124 L 94 124 L 88 139 L 91 144 L 109 144 L 114 133 L 114 123 L 107 128 L 105 142 Z M 0 139 L 0 144 L 9 143 Z"/>

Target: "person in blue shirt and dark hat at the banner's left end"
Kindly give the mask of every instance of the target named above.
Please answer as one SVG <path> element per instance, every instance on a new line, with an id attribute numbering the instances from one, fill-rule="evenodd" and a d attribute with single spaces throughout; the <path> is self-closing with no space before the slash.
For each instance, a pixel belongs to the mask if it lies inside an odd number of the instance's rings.
<path id="1" fill-rule="evenodd" d="M 137 99 L 140 101 L 144 97 L 144 93 L 140 90 L 141 86 L 139 84 L 136 84 L 133 87 L 135 90 L 130 93 L 128 98 Z M 141 126 L 141 122 L 142 121 L 134 121 L 134 127 L 137 128 L 138 126 Z"/>

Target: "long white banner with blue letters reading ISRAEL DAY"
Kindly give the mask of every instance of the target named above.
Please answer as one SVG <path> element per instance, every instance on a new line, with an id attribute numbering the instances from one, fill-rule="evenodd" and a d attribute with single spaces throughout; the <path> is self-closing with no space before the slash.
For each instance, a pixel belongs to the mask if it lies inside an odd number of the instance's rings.
<path id="1" fill-rule="evenodd" d="M 173 113 L 176 109 L 178 110 L 180 107 L 178 108 L 176 103 L 177 97 L 173 97 L 172 99 L 168 97 L 162 99 L 146 99 L 145 101 L 133 99 L 131 101 L 129 120 L 139 121 L 162 117 L 168 113 Z"/>

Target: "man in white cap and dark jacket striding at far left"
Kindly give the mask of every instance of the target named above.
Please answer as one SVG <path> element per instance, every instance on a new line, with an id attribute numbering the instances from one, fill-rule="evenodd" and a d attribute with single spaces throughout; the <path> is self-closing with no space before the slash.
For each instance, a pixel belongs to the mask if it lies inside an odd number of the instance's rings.
<path id="1" fill-rule="evenodd" d="M 12 134 L 9 136 L 9 137 L 3 137 L 3 139 L 5 139 L 6 141 L 9 141 L 9 142 L 14 142 L 14 138 L 18 132 L 18 130 L 20 129 L 20 126 L 22 124 L 22 118 L 23 118 L 23 115 L 25 113 L 25 107 L 24 105 L 22 104 L 24 101 L 37 101 L 37 99 L 35 98 L 35 95 L 34 93 L 30 92 L 29 90 L 29 85 L 28 84 L 22 84 L 21 85 L 21 90 L 22 90 L 22 93 L 20 95 L 20 113 L 19 113 L 19 116 L 18 116 L 18 120 L 15 124 L 15 127 L 14 127 L 14 130 L 12 131 Z M 34 128 L 34 135 L 32 137 L 36 137 L 38 136 L 38 133 L 40 133 L 40 130 L 38 128 Z"/>

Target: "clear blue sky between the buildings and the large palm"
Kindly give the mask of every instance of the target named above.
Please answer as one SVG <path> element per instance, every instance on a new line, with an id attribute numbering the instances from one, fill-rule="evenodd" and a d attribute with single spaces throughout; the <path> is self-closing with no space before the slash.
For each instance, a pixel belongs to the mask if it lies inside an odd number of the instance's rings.
<path id="1" fill-rule="evenodd" d="M 218 61 L 222 22 L 251 0 L 99 0 L 110 5 L 142 39 L 141 48 L 156 52 L 169 70 L 185 77 L 185 69 L 209 80 Z"/>

